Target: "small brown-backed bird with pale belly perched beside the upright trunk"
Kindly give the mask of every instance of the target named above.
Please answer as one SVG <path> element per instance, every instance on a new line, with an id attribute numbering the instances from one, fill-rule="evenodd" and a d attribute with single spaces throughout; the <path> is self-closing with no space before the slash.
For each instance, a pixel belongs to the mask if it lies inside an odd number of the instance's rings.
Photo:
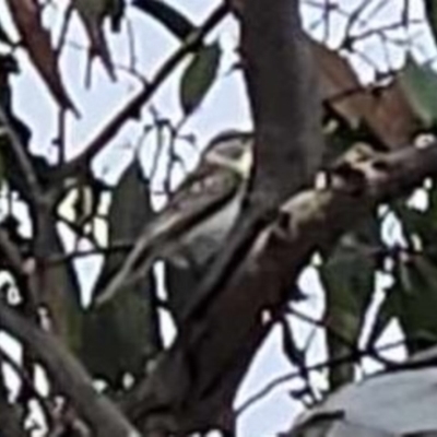
<path id="1" fill-rule="evenodd" d="M 143 277 L 157 259 L 178 268 L 201 268 L 223 247 L 250 190 L 253 133 L 225 131 L 211 140 L 198 166 L 145 225 L 95 305 Z"/>

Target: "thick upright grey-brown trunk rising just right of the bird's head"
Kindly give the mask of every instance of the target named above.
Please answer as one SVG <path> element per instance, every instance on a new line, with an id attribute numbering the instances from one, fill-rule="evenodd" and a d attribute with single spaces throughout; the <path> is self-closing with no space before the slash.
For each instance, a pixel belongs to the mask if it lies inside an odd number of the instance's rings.
<path id="1" fill-rule="evenodd" d="M 255 199 L 297 192 L 321 162 L 321 101 L 298 1 L 245 2 L 243 58 L 256 127 Z"/>

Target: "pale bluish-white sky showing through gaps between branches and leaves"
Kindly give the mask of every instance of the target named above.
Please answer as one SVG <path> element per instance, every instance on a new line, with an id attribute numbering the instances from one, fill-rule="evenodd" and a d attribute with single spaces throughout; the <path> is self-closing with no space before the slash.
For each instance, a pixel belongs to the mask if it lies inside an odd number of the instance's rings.
<path id="1" fill-rule="evenodd" d="M 169 1 L 170 2 L 170 1 Z M 322 1 L 321 1 L 322 2 Z M 59 2 L 60 4 L 62 2 Z M 185 0 L 173 1 L 180 11 L 184 11 L 194 22 L 201 23 L 205 16 L 218 3 L 217 1 L 204 0 Z M 322 10 L 317 7 L 320 2 L 308 1 L 303 8 L 303 20 L 305 27 L 311 32 L 316 38 L 323 38 L 327 32 L 320 25 L 320 14 Z M 340 9 L 330 16 L 329 45 L 338 46 L 345 29 L 346 20 L 341 11 L 351 12 L 362 4 L 363 1 L 342 0 L 332 1 Z M 368 1 L 368 7 L 363 11 L 363 16 L 371 20 L 370 26 L 379 27 L 387 25 L 395 20 L 403 7 L 401 0 L 383 0 Z M 377 5 L 379 4 L 379 8 Z M 411 17 L 420 19 L 423 16 L 422 1 L 410 1 Z M 8 15 L 5 2 L 0 2 L 0 16 Z M 54 29 L 54 39 L 57 40 L 61 26 L 62 10 L 49 9 L 44 15 L 47 26 Z M 137 68 L 139 71 L 146 72 L 147 78 L 152 78 L 163 61 L 178 47 L 178 42 L 163 29 L 161 25 L 153 20 L 147 19 L 144 14 L 134 11 L 132 8 L 128 10 L 128 21 L 133 32 L 134 55 L 137 59 Z M 2 20 L 3 22 L 3 20 Z M 318 24 L 319 23 L 319 24 Z M 355 28 L 356 27 L 356 28 Z M 358 21 L 353 32 L 361 33 L 369 29 L 369 24 Z M 14 29 L 10 28 L 14 34 Z M 434 46 L 432 44 L 430 34 L 424 25 L 414 25 L 405 32 L 405 29 L 390 31 L 389 35 L 395 40 L 404 40 L 405 37 L 412 37 L 414 45 L 410 47 L 412 54 L 421 61 L 433 60 L 436 57 Z M 127 67 L 130 64 L 130 50 L 128 38 L 128 25 L 125 21 L 120 35 L 109 35 L 109 44 L 114 59 L 117 66 Z M 245 86 L 240 73 L 233 69 L 237 59 L 235 49 L 238 44 L 238 25 L 232 19 L 226 20 L 212 35 L 209 40 L 220 42 L 224 51 L 218 80 L 206 96 L 200 110 L 198 110 L 184 125 L 182 132 L 187 134 L 196 133 L 198 149 L 189 146 L 184 141 L 178 142 L 179 152 L 185 156 L 188 168 L 196 165 L 199 151 L 208 143 L 217 132 L 225 129 L 243 129 L 251 128 L 250 113 L 246 98 Z M 106 72 L 98 62 L 93 66 L 92 87 L 86 88 L 85 82 L 85 56 L 84 56 L 84 32 L 76 17 L 73 17 L 68 33 L 68 45 L 61 57 L 61 71 L 68 90 L 70 90 L 73 101 L 78 104 L 82 114 L 81 119 L 70 116 L 67 125 L 67 155 L 69 158 L 80 153 L 86 143 L 94 137 L 96 132 L 110 119 L 111 114 L 122 107 L 123 103 L 129 99 L 139 87 L 138 80 L 126 72 L 122 68 L 117 69 L 118 82 L 113 83 L 107 78 Z M 389 48 L 383 48 L 380 37 L 373 35 L 366 40 L 358 43 L 357 49 L 366 54 L 366 59 L 359 56 L 351 56 L 351 62 L 359 72 L 363 82 L 367 83 L 373 80 L 375 70 L 373 63 L 378 64 L 381 69 L 389 67 L 399 68 L 405 56 L 405 48 L 401 44 L 391 44 Z M 56 160 L 57 151 L 52 145 L 52 139 L 57 131 L 57 114 L 51 99 L 48 97 L 47 91 L 42 81 L 28 62 L 24 52 L 19 54 L 20 63 L 23 74 L 14 79 L 14 109 L 33 130 L 32 144 L 38 154 L 44 154 L 50 160 Z M 179 104 L 179 80 L 187 61 L 177 69 L 172 79 L 162 86 L 153 98 L 153 108 L 175 123 L 180 121 L 182 113 Z M 132 160 L 134 153 L 140 153 L 144 165 L 144 172 L 150 172 L 151 156 L 153 156 L 156 143 L 151 137 L 147 141 L 139 145 L 139 139 L 142 134 L 144 125 L 152 122 L 151 107 L 147 106 L 142 110 L 142 123 L 131 121 L 121 129 L 121 131 L 111 141 L 105 152 L 99 154 L 93 162 L 93 168 L 96 174 L 104 178 L 108 184 L 115 184 L 121 172 Z M 165 162 L 161 163 L 165 166 Z M 175 172 L 175 184 L 180 180 L 184 173 L 179 169 Z M 162 186 L 162 174 L 157 174 L 154 181 L 157 190 Z M 156 204 L 162 204 L 163 199 L 156 197 Z M 66 214 L 68 214 L 68 205 L 66 205 Z M 24 223 L 25 226 L 25 223 Z M 101 226 L 102 232 L 99 238 L 104 240 L 106 237 L 105 227 Z M 27 229 L 29 232 L 29 229 Z M 60 228 L 68 248 L 72 247 L 73 239 L 69 235 L 67 228 Z M 401 238 L 401 231 L 394 217 L 388 217 L 385 222 L 382 234 L 390 241 Z M 80 279 L 85 291 L 85 300 L 88 298 L 86 294 L 92 287 L 93 281 L 98 273 L 102 260 L 98 257 L 88 257 L 78 261 L 76 267 L 80 272 Z M 370 309 L 368 317 L 371 321 L 371 311 L 375 312 L 378 303 L 382 296 L 383 286 L 389 279 L 379 277 L 376 281 L 378 293 Z M 318 317 L 323 311 L 323 294 L 317 271 L 314 268 L 305 269 L 299 277 L 298 284 L 309 296 L 305 303 L 298 304 L 298 309 L 306 311 L 311 317 Z M 323 361 L 324 338 L 321 332 L 315 331 L 309 323 L 293 320 L 291 321 L 294 332 L 297 333 L 302 345 L 309 344 L 309 363 L 320 363 Z M 170 322 L 166 320 L 167 342 L 172 341 L 174 331 Z M 399 335 L 397 327 L 390 327 L 385 338 L 380 342 L 392 341 Z M 285 374 L 294 371 L 293 366 L 286 361 L 281 352 L 281 331 L 276 327 L 265 341 L 248 371 L 245 381 L 241 385 L 236 399 L 236 406 L 241 405 L 248 397 L 256 393 L 270 380 Z M 20 355 L 20 349 L 10 339 L 0 336 L 0 345 L 8 350 L 12 356 Z M 398 355 L 402 354 L 398 351 Z M 366 364 L 368 371 L 376 369 L 374 363 Z M 314 382 L 320 390 L 326 387 L 326 375 L 323 373 L 314 374 Z M 13 376 L 10 377 L 11 381 Z M 44 386 L 44 378 L 40 378 L 39 386 Z M 243 437 L 255 436 L 273 436 L 277 432 L 285 430 L 291 425 L 291 420 L 300 410 L 302 405 L 292 400 L 288 392 L 291 389 L 299 387 L 297 378 L 291 382 L 282 385 L 273 390 L 262 401 L 256 403 L 251 409 L 247 410 L 238 421 L 238 435 Z"/>

